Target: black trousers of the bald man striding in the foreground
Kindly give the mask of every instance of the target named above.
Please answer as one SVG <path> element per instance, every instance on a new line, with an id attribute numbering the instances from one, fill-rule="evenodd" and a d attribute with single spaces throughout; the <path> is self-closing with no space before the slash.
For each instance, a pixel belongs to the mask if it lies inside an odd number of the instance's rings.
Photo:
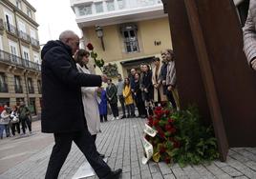
<path id="1" fill-rule="evenodd" d="M 64 164 L 72 147 L 72 142 L 83 152 L 87 161 L 96 171 L 98 178 L 111 173 L 109 166 L 96 152 L 95 142 L 88 129 L 74 132 L 54 133 L 55 145 L 46 171 L 46 179 L 57 179 L 59 170 Z"/>

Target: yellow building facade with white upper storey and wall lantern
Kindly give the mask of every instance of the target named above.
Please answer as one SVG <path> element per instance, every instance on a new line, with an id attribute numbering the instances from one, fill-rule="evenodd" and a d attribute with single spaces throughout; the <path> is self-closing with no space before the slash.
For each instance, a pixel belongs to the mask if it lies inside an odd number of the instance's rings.
<path id="1" fill-rule="evenodd" d="M 117 64 L 118 73 L 124 77 L 141 63 L 151 64 L 161 50 L 172 49 L 161 1 L 74 0 L 71 5 L 85 46 L 92 43 L 98 59 L 105 65 Z M 96 73 L 101 71 L 96 68 Z"/>

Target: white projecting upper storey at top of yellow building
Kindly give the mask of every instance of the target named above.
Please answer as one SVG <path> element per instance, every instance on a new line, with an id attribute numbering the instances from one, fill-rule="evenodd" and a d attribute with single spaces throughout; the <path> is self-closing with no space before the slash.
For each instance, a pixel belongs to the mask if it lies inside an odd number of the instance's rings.
<path id="1" fill-rule="evenodd" d="M 98 10 L 98 1 L 71 0 L 78 26 L 107 26 L 167 16 L 160 0 L 114 0 L 111 6 L 108 2 L 103 1 Z"/>

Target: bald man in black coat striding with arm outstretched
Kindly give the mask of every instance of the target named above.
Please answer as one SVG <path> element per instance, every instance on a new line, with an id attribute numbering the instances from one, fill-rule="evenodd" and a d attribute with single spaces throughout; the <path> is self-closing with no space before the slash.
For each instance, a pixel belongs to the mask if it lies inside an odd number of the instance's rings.
<path id="1" fill-rule="evenodd" d="M 59 40 L 49 41 L 42 58 L 42 131 L 53 133 L 55 145 L 48 164 L 46 179 L 56 179 L 72 142 L 83 152 L 100 179 L 119 178 L 121 169 L 112 171 L 96 153 L 81 97 L 81 87 L 100 87 L 105 75 L 79 73 L 73 55 L 79 49 L 74 31 L 63 31 Z"/>

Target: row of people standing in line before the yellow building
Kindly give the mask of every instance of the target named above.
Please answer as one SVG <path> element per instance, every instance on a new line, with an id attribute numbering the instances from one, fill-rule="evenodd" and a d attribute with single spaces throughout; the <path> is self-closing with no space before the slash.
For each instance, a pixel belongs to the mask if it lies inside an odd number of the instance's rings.
<path id="1" fill-rule="evenodd" d="M 118 119 L 117 99 L 121 105 L 121 118 L 136 117 L 135 104 L 139 116 L 145 118 L 153 114 L 156 106 L 170 102 L 173 109 L 180 109 L 176 84 L 175 58 L 172 50 L 161 51 L 159 57 L 154 58 L 151 70 L 149 64 L 141 64 L 140 71 L 132 69 L 131 75 L 124 81 L 117 75 L 117 85 L 108 80 L 107 99 L 110 103 L 114 118 Z"/>

